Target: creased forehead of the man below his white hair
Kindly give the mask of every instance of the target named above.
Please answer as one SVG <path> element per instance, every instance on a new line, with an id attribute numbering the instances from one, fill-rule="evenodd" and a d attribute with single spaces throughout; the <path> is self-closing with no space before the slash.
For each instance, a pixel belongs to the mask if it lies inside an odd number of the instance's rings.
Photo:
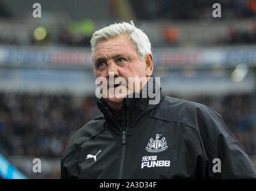
<path id="1" fill-rule="evenodd" d="M 137 54 L 137 51 L 128 36 L 121 35 L 98 42 L 95 47 L 94 58 L 110 57 L 115 54 Z"/>

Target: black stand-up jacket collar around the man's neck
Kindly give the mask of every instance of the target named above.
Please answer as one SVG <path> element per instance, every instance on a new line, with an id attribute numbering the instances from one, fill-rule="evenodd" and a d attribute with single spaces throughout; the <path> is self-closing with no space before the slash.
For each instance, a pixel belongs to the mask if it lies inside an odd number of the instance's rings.
<path id="1" fill-rule="evenodd" d="M 129 128 L 133 128 L 143 115 L 147 115 L 150 110 L 158 107 L 164 96 L 162 94 L 162 88 L 160 87 L 159 82 L 156 81 L 154 76 L 151 77 L 152 78 L 150 78 L 147 84 L 144 85 L 139 95 L 133 93 L 124 97 L 121 121 L 119 121 L 115 115 L 113 115 L 112 110 L 103 97 L 97 101 L 97 105 L 110 127 L 114 125 L 119 129 L 124 129 L 124 126 L 128 123 Z M 146 92 L 144 97 L 143 91 Z M 121 132 L 120 130 L 118 131 Z"/>

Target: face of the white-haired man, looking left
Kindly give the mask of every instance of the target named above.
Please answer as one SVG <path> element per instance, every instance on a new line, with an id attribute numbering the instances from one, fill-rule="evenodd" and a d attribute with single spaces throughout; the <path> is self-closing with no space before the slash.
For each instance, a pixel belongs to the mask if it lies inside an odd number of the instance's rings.
<path id="1" fill-rule="evenodd" d="M 126 90 L 125 93 L 122 92 L 123 96 L 131 93 L 131 88 L 133 88 L 128 87 L 128 77 L 150 77 L 150 74 L 146 72 L 145 59 L 140 60 L 137 51 L 126 35 L 98 42 L 94 52 L 94 64 L 96 77 L 104 77 L 108 83 L 111 75 L 115 79 L 119 76 L 125 78 L 127 84 L 126 87 L 122 87 Z M 143 85 L 141 84 L 140 90 Z M 108 85 L 107 90 L 108 93 L 110 90 L 115 91 L 115 87 L 109 87 Z M 105 98 L 107 104 L 115 110 L 122 109 L 123 99 L 123 97 L 118 98 L 116 96 Z"/>

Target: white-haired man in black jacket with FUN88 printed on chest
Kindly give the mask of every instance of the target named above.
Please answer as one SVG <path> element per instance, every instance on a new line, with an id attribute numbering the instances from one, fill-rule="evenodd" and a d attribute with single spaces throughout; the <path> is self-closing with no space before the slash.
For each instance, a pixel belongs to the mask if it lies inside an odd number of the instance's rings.
<path id="1" fill-rule="evenodd" d="M 163 96 L 156 78 L 150 78 L 149 39 L 132 21 L 98 30 L 91 44 L 97 79 L 107 81 L 97 101 L 103 114 L 71 137 L 61 158 L 61 178 L 256 177 L 218 113 Z M 127 84 L 110 82 L 120 77 Z M 153 100 L 158 101 L 150 104 Z"/>

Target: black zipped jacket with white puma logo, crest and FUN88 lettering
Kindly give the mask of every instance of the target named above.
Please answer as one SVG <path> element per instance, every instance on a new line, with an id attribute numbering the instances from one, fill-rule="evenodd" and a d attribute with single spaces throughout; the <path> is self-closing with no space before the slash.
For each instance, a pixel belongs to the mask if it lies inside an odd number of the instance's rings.
<path id="1" fill-rule="evenodd" d="M 98 100 L 103 114 L 71 137 L 61 178 L 256 178 L 221 115 L 160 95 L 159 104 L 124 98 L 121 121 Z"/>

